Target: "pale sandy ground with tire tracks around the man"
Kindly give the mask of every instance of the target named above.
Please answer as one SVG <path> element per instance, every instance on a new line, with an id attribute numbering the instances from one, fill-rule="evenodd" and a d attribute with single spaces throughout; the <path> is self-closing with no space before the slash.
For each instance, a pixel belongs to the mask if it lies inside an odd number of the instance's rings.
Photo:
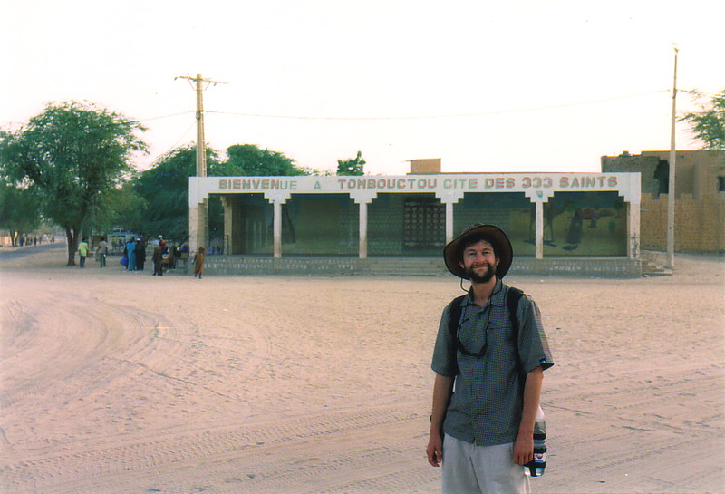
<path id="1" fill-rule="evenodd" d="M 452 277 L 150 276 L 0 255 L 3 493 L 435 493 Z M 725 491 L 725 260 L 508 276 L 545 316 L 539 493 Z"/>

